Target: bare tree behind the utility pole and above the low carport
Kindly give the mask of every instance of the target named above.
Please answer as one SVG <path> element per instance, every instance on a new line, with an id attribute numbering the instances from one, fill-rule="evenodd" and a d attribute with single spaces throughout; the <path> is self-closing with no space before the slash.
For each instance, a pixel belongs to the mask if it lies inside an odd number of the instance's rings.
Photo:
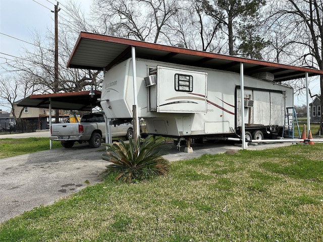
<path id="1" fill-rule="evenodd" d="M 69 11 L 69 12 L 67 12 Z M 10 68 L 33 79 L 38 93 L 69 92 L 90 89 L 100 89 L 102 75 L 99 71 L 68 69 L 66 64 L 72 52 L 80 30 L 86 28 L 86 20 L 79 14 L 79 8 L 71 4 L 65 13 L 71 13 L 72 22 L 64 16 L 59 22 L 59 84 L 55 87 L 54 69 L 54 34 L 53 29 L 47 29 L 46 38 L 41 38 L 36 31 L 33 32 L 32 41 L 34 48 L 25 49 L 24 57 L 16 59 Z M 63 12 L 63 11 L 62 11 Z M 72 23 L 72 24 L 71 24 Z M 33 93 L 34 94 L 34 93 Z"/>

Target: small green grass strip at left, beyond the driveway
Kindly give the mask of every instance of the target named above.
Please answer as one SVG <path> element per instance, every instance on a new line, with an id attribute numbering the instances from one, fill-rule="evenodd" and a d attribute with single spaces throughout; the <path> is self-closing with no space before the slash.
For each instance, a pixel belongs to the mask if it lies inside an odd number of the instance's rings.
<path id="1" fill-rule="evenodd" d="M 52 148 L 62 147 L 60 142 L 52 142 Z M 0 159 L 49 150 L 48 138 L 0 139 Z"/>

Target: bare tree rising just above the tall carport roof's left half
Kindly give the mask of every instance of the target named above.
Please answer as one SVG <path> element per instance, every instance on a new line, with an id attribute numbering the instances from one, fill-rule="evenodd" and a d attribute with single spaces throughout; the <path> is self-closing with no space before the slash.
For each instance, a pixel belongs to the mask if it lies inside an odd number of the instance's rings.
<path id="1" fill-rule="evenodd" d="M 176 0 L 96 0 L 94 20 L 103 34 L 157 43 L 178 12 Z"/>

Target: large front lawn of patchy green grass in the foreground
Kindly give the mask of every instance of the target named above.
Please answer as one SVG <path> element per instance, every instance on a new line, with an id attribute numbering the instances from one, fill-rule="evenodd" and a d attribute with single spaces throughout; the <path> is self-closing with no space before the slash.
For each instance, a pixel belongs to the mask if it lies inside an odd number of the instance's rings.
<path id="1" fill-rule="evenodd" d="M 0 241 L 323 241 L 323 144 L 171 163 L 108 177 L 0 225 Z"/>

